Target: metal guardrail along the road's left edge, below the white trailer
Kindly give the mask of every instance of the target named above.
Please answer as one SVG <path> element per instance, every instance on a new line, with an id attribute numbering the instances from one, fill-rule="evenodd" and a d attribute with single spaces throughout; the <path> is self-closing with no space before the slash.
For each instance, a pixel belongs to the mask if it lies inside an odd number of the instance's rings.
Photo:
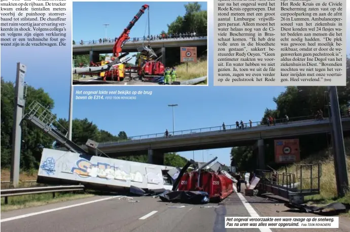
<path id="1" fill-rule="evenodd" d="M 84 185 L 59 185 L 48 187 L 30 187 L 30 188 L 9 188 L 1 189 L 0 197 L 5 198 L 5 204 L 8 204 L 8 197 L 23 196 L 30 194 L 45 194 L 52 192 L 52 197 L 55 198 L 55 192 L 60 191 L 79 191 L 84 190 Z"/>

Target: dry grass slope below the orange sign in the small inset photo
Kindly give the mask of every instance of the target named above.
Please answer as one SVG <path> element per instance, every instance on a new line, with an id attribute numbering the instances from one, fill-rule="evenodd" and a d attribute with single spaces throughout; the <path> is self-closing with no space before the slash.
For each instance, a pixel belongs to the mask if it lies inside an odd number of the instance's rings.
<path id="1" fill-rule="evenodd" d="M 177 76 L 180 78 L 177 81 L 185 81 L 207 75 L 208 62 L 206 60 L 198 61 L 197 63 L 188 63 L 188 71 L 186 63 L 176 67 Z M 206 85 L 207 82 L 205 82 Z"/>

